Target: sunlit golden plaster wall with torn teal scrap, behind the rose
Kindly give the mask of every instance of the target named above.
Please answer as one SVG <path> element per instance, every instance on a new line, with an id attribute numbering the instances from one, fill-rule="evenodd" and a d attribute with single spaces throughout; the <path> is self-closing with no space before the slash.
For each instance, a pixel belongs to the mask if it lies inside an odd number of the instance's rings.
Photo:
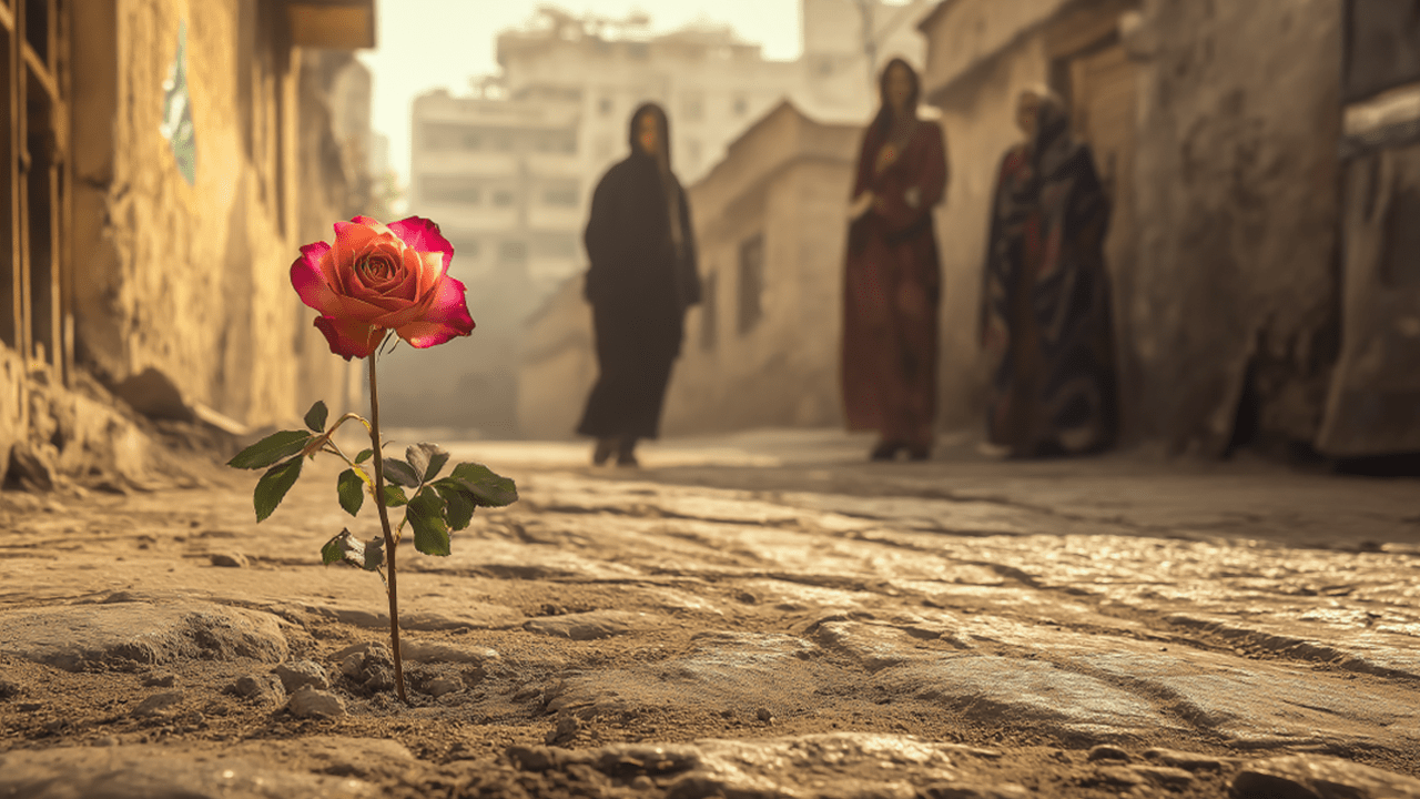
<path id="1" fill-rule="evenodd" d="M 300 53 L 287 60 L 271 6 L 91 6 L 74 16 L 72 48 L 74 115 L 91 121 L 75 139 L 81 360 L 114 381 L 155 367 L 193 401 L 251 425 L 288 421 L 315 397 L 342 405 L 345 363 L 312 341 L 312 314 L 290 287 L 302 243 L 295 208 L 311 193 L 295 168 Z M 179 20 L 193 185 L 159 135 Z"/>

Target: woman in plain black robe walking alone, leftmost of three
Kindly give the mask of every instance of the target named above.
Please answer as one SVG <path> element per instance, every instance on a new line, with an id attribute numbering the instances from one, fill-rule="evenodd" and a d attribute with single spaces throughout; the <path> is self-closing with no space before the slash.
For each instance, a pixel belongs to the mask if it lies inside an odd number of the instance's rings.
<path id="1" fill-rule="evenodd" d="M 690 205 L 670 171 L 666 112 L 630 118 L 630 155 L 608 169 L 586 222 L 585 296 L 592 304 L 598 378 L 577 427 L 596 438 L 592 461 L 636 465 L 636 441 L 656 438 L 686 309 L 700 301 Z"/>

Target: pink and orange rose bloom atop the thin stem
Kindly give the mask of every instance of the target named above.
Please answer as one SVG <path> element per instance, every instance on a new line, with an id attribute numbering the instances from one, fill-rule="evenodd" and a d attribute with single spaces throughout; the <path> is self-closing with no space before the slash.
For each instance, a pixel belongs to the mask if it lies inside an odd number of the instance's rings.
<path id="1" fill-rule="evenodd" d="M 427 219 L 381 225 L 368 216 L 335 223 L 335 246 L 301 247 L 291 286 L 321 313 L 315 327 L 345 360 L 375 353 L 393 330 L 413 347 L 473 331 L 464 286 L 449 277 L 453 245 Z"/>

